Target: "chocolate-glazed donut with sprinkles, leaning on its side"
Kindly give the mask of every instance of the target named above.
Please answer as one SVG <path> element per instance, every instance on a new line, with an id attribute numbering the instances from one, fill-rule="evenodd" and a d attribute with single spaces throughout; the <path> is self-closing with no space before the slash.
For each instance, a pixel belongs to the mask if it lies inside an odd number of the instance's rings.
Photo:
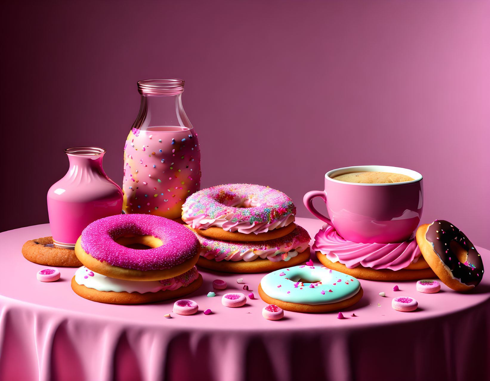
<path id="1" fill-rule="evenodd" d="M 468 291 L 483 278 L 483 261 L 471 241 L 448 221 L 435 220 L 417 229 L 417 244 L 436 275 L 455 291 Z"/>

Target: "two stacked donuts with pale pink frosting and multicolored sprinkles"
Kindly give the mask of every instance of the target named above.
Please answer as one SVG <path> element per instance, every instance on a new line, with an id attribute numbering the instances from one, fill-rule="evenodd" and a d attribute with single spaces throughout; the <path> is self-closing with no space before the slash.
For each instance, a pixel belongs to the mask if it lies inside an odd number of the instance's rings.
<path id="1" fill-rule="evenodd" d="M 294 223 L 296 207 L 269 187 L 226 184 L 190 195 L 182 220 L 199 240 L 203 268 L 231 273 L 273 271 L 305 262 L 310 236 Z"/>

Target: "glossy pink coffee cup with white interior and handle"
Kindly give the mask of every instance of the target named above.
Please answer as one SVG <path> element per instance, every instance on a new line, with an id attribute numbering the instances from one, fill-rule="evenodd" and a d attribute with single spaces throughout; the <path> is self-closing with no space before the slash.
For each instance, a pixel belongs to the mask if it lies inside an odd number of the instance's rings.
<path id="1" fill-rule="evenodd" d="M 351 172 L 392 172 L 413 181 L 390 184 L 347 183 L 332 179 Z M 313 199 L 325 201 L 330 218 L 313 207 Z M 332 225 L 346 240 L 359 243 L 395 243 L 410 238 L 420 222 L 423 205 L 422 175 L 387 166 L 356 166 L 325 173 L 325 190 L 304 195 L 306 208 Z"/>

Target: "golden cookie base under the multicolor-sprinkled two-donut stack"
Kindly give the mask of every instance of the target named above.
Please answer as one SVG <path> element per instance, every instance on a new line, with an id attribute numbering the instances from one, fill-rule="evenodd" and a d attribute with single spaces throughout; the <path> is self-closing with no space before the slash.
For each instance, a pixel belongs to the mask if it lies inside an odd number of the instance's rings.
<path id="1" fill-rule="evenodd" d="M 197 260 L 197 266 L 206 268 L 208 270 L 230 272 L 237 274 L 253 274 L 258 272 L 273 271 L 280 268 L 295 266 L 299 263 L 306 262 L 310 259 L 310 250 L 306 249 L 302 253 L 298 253 L 297 256 L 291 258 L 289 261 L 272 262 L 267 258 L 257 258 L 256 260 L 245 261 L 221 261 L 206 259 L 199 257 Z"/>

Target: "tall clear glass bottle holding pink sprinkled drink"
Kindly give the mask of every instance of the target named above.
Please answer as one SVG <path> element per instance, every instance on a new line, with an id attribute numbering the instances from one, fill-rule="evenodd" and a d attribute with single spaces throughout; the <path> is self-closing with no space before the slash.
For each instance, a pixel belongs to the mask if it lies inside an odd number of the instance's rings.
<path id="1" fill-rule="evenodd" d="M 201 153 L 183 91 L 181 79 L 138 82 L 140 113 L 124 145 L 123 213 L 177 219 L 199 190 Z"/>

